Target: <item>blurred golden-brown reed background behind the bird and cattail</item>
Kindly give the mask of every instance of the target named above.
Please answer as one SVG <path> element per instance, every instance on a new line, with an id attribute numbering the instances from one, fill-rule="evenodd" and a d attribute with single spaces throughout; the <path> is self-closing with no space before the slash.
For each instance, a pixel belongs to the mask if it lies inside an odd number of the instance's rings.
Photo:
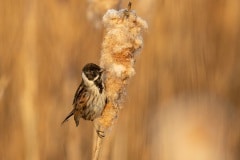
<path id="1" fill-rule="evenodd" d="M 0 1 L 1 160 L 91 159 L 93 124 L 60 125 L 100 58 L 90 2 Z M 102 159 L 240 159 L 240 1 L 132 2 L 149 29 Z"/>

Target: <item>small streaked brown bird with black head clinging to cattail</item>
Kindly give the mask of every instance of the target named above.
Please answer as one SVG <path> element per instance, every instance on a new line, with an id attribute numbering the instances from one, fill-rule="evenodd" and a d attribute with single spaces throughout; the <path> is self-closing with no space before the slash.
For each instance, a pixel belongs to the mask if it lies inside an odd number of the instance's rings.
<path id="1" fill-rule="evenodd" d="M 79 119 L 93 121 L 101 116 L 107 103 L 102 73 L 105 70 L 94 63 L 86 64 L 82 69 L 82 82 L 79 85 L 74 99 L 73 110 L 64 119 L 62 124 L 74 116 L 76 126 Z"/>

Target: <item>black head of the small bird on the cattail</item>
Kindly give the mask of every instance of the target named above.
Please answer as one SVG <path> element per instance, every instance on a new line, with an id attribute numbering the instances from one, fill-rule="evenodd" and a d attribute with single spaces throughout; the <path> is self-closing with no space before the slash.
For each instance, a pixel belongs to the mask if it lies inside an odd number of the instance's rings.
<path id="1" fill-rule="evenodd" d="M 83 67 L 82 71 L 88 80 L 94 81 L 101 77 L 103 69 L 94 63 L 88 63 Z"/>

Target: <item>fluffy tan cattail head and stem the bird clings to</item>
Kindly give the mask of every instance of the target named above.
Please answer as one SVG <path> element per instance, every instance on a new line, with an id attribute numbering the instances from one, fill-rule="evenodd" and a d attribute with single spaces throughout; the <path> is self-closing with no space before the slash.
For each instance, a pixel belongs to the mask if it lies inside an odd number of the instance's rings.
<path id="1" fill-rule="evenodd" d="M 106 30 L 100 59 L 100 66 L 106 69 L 104 77 L 108 102 L 102 116 L 94 121 L 98 133 L 94 160 L 98 159 L 102 138 L 117 120 L 122 102 L 126 95 L 129 79 L 135 74 L 134 63 L 136 54 L 143 47 L 142 32 L 147 23 L 131 10 L 108 10 L 103 16 Z"/>

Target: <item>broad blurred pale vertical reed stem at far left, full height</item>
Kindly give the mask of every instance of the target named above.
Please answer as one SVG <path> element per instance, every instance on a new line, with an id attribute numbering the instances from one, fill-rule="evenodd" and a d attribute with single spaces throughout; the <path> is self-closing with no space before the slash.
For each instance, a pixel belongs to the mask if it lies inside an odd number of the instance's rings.
<path id="1" fill-rule="evenodd" d="M 37 134 L 37 112 L 34 99 L 37 93 L 37 54 L 36 54 L 36 24 L 37 1 L 29 4 L 28 14 L 24 21 L 22 46 L 19 51 L 19 79 L 22 80 L 21 90 L 21 120 L 24 133 L 24 145 L 26 160 L 39 159 L 39 141 Z"/>

